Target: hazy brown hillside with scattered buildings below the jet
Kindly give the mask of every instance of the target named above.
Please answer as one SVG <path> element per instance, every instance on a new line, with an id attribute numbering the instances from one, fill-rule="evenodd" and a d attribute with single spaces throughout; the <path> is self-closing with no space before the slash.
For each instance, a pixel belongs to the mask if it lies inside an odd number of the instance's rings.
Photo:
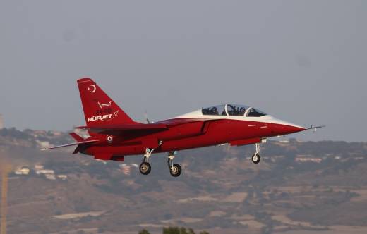
<path id="1" fill-rule="evenodd" d="M 1 164 L 11 164 L 8 233 L 161 233 L 184 226 L 210 233 L 367 233 L 367 143 L 270 140 L 254 147 L 179 152 L 172 178 L 165 154 L 96 161 L 66 133 L 0 130 Z"/>

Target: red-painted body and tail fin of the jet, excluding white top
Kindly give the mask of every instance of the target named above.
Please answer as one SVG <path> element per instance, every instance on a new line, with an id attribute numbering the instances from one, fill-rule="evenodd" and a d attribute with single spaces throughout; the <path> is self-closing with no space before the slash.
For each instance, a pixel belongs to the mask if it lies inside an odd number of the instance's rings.
<path id="1" fill-rule="evenodd" d="M 264 137 L 306 130 L 294 125 L 205 116 L 137 123 L 90 78 L 78 80 L 78 87 L 86 123 L 85 127 L 79 128 L 87 129 L 91 137 L 82 139 L 71 133 L 80 142 L 74 153 L 90 154 L 96 159 L 124 161 L 124 156 L 144 154 L 147 148 L 155 149 L 154 153 L 157 153 L 224 143 L 254 144 Z"/>

